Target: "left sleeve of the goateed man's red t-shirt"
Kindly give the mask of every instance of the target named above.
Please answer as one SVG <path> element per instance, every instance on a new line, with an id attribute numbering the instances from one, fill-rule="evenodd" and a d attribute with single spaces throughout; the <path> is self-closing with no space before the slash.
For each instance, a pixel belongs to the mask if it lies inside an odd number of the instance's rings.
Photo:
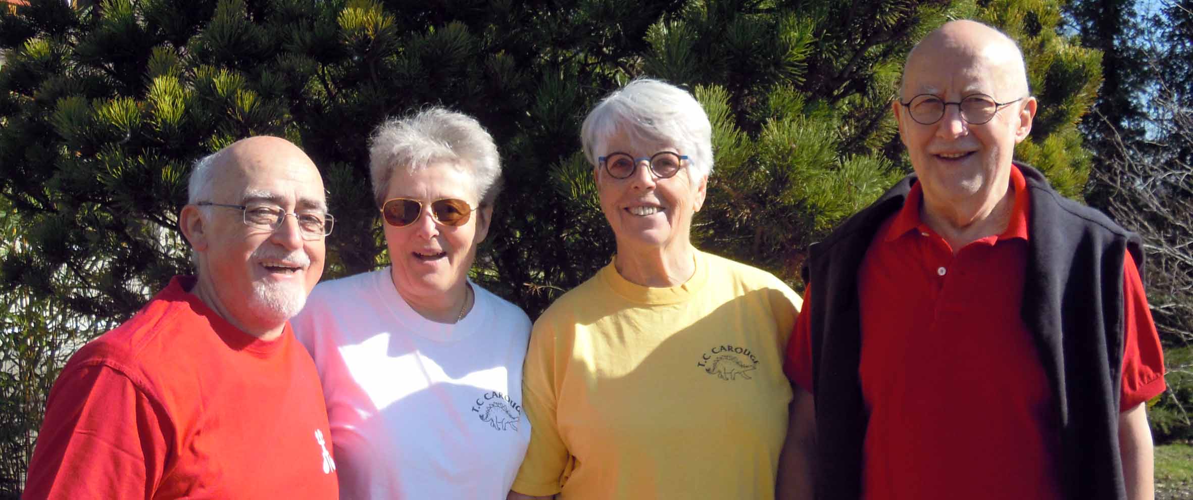
<path id="1" fill-rule="evenodd" d="M 68 365 L 50 391 L 24 498 L 152 498 L 168 451 L 162 420 L 123 372 Z"/>

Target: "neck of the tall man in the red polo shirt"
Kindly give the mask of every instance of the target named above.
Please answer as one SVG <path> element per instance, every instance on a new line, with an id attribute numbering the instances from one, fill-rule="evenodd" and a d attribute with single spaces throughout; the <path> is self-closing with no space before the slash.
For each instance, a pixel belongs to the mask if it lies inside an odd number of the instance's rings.
<path id="1" fill-rule="evenodd" d="M 997 186 L 1001 189 L 979 204 L 940 203 L 931 200 L 925 192 L 920 218 L 944 237 L 956 254 L 969 243 L 1007 229 L 1015 205 L 1015 190 L 1009 187 L 1009 180 Z"/>

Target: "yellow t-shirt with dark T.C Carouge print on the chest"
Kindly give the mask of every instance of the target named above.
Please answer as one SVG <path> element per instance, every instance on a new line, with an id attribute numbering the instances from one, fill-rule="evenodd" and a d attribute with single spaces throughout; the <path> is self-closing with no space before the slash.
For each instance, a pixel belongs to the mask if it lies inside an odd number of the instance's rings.
<path id="1" fill-rule="evenodd" d="M 697 253 L 674 288 L 612 264 L 534 322 L 531 442 L 513 489 L 563 499 L 771 499 L 787 430 L 783 353 L 802 303 L 768 272 Z"/>

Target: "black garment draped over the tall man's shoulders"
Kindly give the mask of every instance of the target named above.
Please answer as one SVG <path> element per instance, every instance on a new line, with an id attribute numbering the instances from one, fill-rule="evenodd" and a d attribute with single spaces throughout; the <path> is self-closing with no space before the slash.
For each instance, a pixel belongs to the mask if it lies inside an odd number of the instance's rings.
<path id="1" fill-rule="evenodd" d="M 1015 165 L 1031 196 L 1021 315 L 1059 418 L 1061 486 L 1067 499 L 1125 499 L 1118 446 L 1123 261 L 1129 249 L 1142 272 L 1141 241 L 1100 211 L 1053 191 L 1034 168 Z M 915 181 L 914 174 L 904 178 L 809 249 L 803 272 L 804 280 L 816 288 L 808 307 L 812 311 L 817 499 L 860 496 L 869 414 L 858 379 L 858 270 L 874 233 L 903 206 Z"/>

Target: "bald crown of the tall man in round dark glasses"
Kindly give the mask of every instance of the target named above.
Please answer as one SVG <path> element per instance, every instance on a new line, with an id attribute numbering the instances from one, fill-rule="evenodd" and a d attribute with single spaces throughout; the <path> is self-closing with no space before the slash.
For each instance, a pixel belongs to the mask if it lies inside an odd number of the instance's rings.
<path id="1" fill-rule="evenodd" d="M 958 61 L 975 61 L 977 67 L 989 72 L 987 76 L 1001 94 L 993 95 L 996 99 L 1028 94 L 1027 68 L 1019 45 L 1002 31 L 973 20 L 945 23 L 915 44 L 903 64 L 900 94 L 907 99 L 908 93 L 922 93 L 922 89 L 908 88 L 916 76 L 964 70 Z"/>

